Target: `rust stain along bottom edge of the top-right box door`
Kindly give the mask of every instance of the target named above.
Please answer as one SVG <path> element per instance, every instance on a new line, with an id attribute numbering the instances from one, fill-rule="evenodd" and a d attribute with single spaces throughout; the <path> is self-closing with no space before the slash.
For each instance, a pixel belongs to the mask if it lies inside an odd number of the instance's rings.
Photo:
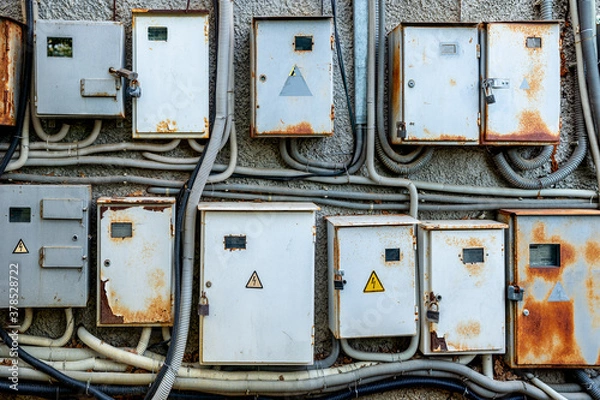
<path id="1" fill-rule="evenodd" d="M 512 133 L 485 132 L 484 143 L 491 142 L 535 142 L 557 143 L 559 132 L 551 132 L 539 111 L 525 110 L 519 116 L 519 128 Z"/>

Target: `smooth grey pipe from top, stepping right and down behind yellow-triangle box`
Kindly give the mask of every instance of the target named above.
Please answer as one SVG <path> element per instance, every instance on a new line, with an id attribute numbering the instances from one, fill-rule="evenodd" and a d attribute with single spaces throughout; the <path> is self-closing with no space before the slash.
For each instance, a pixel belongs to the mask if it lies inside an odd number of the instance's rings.
<path id="1" fill-rule="evenodd" d="M 378 185 L 400 186 L 408 189 L 410 195 L 409 214 L 418 218 L 419 194 L 417 188 L 408 179 L 388 178 L 375 169 L 375 1 L 369 1 L 369 34 L 367 62 L 367 171 L 369 179 Z"/>

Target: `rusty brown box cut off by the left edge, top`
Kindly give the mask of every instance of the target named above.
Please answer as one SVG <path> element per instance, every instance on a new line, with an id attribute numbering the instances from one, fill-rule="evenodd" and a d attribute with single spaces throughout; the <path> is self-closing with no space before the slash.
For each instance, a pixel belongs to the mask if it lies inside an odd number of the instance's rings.
<path id="1" fill-rule="evenodd" d="M 23 68 L 23 29 L 21 24 L 0 17 L 0 125 L 17 124 Z"/>

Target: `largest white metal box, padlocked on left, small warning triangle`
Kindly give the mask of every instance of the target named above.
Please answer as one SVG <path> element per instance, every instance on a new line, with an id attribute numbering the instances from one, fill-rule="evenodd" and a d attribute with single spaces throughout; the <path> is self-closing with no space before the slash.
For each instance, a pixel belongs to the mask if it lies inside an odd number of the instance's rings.
<path id="1" fill-rule="evenodd" d="M 312 203 L 200 203 L 200 362 L 313 363 Z"/>

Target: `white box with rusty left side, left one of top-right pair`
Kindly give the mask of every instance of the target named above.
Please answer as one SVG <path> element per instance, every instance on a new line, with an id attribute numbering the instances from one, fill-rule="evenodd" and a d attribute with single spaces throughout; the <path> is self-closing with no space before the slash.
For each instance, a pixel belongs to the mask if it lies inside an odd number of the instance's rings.
<path id="1" fill-rule="evenodd" d="M 403 24 L 389 34 L 393 144 L 479 143 L 476 24 Z"/>

